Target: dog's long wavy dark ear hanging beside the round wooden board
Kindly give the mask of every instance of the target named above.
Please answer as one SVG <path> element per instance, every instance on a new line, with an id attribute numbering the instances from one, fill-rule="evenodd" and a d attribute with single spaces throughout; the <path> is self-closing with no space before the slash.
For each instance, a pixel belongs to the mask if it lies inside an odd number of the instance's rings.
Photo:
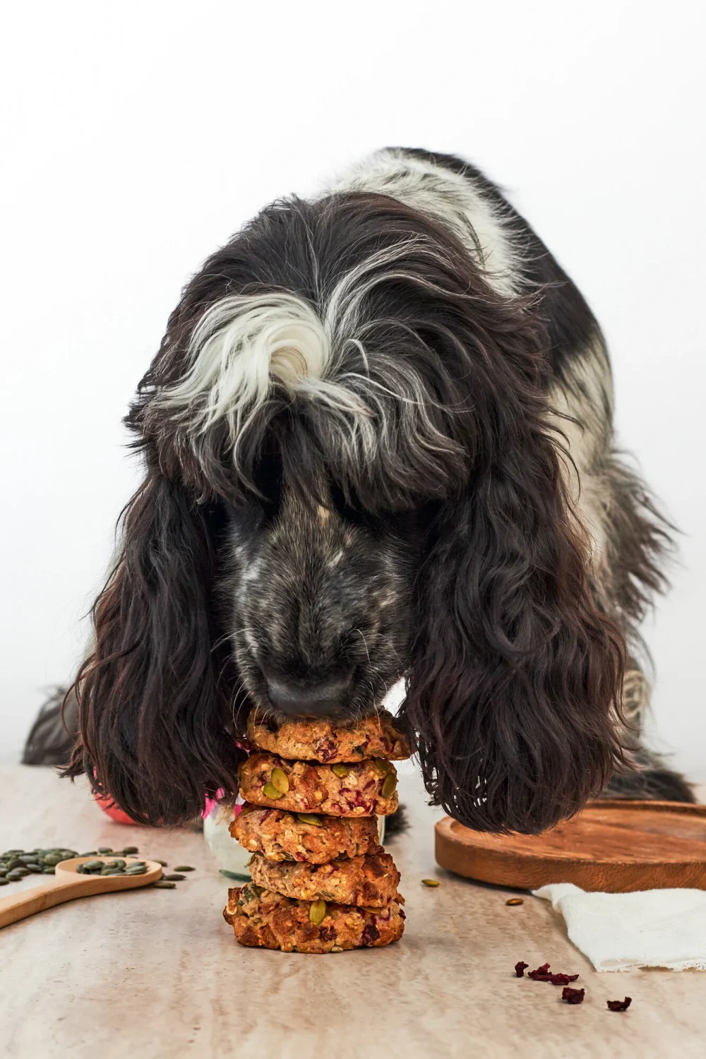
<path id="1" fill-rule="evenodd" d="M 404 708 L 436 804 L 478 830 L 533 833 L 621 759 L 623 644 L 592 595 L 557 441 L 529 396 L 522 409 L 508 387 L 479 410 L 487 457 L 438 516 Z"/>

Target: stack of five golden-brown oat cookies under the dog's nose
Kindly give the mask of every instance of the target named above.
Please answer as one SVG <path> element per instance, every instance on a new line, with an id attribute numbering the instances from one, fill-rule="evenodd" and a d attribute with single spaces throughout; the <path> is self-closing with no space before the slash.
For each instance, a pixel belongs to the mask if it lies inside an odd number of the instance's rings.
<path id="1" fill-rule="evenodd" d="M 248 722 L 255 748 L 240 767 L 246 804 L 231 834 L 252 852 L 252 882 L 223 912 L 240 945 L 342 952 L 396 941 L 404 930 L 400 875 L 378 841 L 397 809 L 392 760 L 410 756 L 387 713 L 338 728 Z"/>

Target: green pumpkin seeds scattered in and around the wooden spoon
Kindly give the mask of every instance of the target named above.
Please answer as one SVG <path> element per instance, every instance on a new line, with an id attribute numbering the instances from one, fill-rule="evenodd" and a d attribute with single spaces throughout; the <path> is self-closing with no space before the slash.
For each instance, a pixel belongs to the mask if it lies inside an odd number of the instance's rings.
<path id="1" fill-rule="evenodd" d="M 90 857 L 92 860 L 78 864 L 76 872 L 79 875 L 144 875 L 147 870 L 145 861 L 131 859 L 140 850 L 137 846 L 125 846 L 124 849 L 111 849 L 109 846 L 99 846 L 97 849 L 89 849 L 88 852 L 79 854 L 75 849 L 67 849 L 64 846 L 52 846 L 40 849 L 5 849 L 0 854 L 0 886 L 6 886 L 11 882 L 19 882 L 28 875 L 55 875 L 56 865 L 61 861 L 71 860 L 74 857 Z M 167 867 L 166 861 L 156 860 L 162 867 Z M 193 872 L 191 864 L 180 864 L 171 875 L 163 875 L 161 879 L 151 885 L 158 890 L 176 890 L 177 882 L 186 878 L 183 872 Z"/>

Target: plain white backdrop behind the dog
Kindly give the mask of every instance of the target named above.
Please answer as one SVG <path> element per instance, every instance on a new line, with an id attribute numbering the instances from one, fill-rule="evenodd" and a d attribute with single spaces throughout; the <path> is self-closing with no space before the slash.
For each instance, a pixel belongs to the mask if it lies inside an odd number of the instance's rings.
<path id="1" fill-rule="evenodd" d="M 684 532 L 646 629 L 706 779 L 704 4 L 141 0 L 6 8 L 0 752 L 67 680 L 139 468 L 121 417 L 186 277 L 388 144 L 500 181 L 610 341 L 621 443 Z"/>

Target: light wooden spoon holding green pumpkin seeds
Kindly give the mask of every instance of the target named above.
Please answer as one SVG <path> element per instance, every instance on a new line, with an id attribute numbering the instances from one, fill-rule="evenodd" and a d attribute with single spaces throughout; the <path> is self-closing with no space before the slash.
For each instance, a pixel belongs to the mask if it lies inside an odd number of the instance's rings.
<path id="1" fill-rule="evenodd" d="M 73 901 L 75 897 L 92 897 L 93 894 L 110 894 L 115 890 L 134 890 L 137 886 L 147 886 L 157 882 L 162 876 L 162 865 L 157 861 L 145 861 L 147 870 L 144 875 L 80 875 L 76 872 L 79 864 L 98 857 L 72 857 L 56 865 L 55 875 L 42 879 L 41 886 L 32 890 L 21 890 L 19 893 L 0 897 L 0 928 L 8 927 L 18 919 L 26 919 L 35 912 L 43 912 L 54 904 Z M 106 856 L 104 860 L 114 860 L 114 855 Z M 124 857 L 126 866 L 134 863 L 138 858 Z"/>

